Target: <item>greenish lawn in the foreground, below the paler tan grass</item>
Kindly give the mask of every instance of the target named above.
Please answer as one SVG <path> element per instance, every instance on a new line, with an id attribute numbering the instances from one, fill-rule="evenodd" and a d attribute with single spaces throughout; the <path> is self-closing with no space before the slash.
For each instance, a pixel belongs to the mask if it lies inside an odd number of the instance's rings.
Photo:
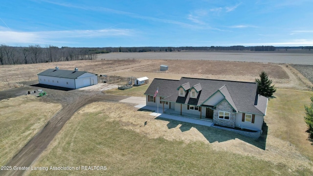
<path id="1" fill-rule="evenodd" d="M 109 113 L 109 112 L 108 112 Z M 203 142 L 149 138 L 124 129 L 106 113 L 83 112 L 73 116 L 33 167 L 106 166 L 106 171 L 32 171 L 31 176 L 293 176 L 291 172 L 253 156 L 218 152 Z"/>

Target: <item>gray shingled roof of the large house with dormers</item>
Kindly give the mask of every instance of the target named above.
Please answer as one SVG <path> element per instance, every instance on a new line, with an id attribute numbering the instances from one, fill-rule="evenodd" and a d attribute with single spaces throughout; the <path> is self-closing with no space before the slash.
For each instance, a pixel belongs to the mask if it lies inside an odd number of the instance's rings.
<path id="1" fill-rule="evenodd" d="M 185 83 L 195 86 L 199 83 L 201 84 L 202 89 L 198 93 L 197 98 L 190 98 L 189 91 L 186 92 L 185 97 L 178 96 L 177 88 Z M 186 77 L 182 77 L 180 80 L 154 79 L 145 94 L 154 95 L 157 87 L 159 96 L 166 97 L 163 100 L 169 102 L 200 106 L 212 94 L 219 90 L 236 111 L 264 115 L 267 107 L 268 99 L 262 95 L 257 96 L 257 84 L 252 82 Z M 258 99 L 256 100 L 256 98 Z M 255 105 L 255 103 L 257 105 Z"/>

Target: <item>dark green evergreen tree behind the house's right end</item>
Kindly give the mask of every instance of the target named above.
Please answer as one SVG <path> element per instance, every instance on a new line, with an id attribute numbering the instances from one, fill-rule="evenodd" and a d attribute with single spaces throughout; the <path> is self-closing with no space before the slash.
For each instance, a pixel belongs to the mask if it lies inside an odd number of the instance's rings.
<path id="1" fill-rule="evenodd" d="M 265 97 L 272 97 L 273 93 L 276 91 L 274 86 L 271 86 L 272 80 L 268 79 L 268 74 L 265 71 L 262 71 L 260 74 L 260 79 L 255 79 L 255 82 L 258 83 L 259 94 Z"/>

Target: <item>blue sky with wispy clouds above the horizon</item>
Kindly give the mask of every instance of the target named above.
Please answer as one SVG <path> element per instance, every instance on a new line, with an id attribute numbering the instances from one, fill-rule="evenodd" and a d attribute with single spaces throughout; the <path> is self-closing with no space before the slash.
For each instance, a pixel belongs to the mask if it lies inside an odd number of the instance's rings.
<path id="1" fill-rule="evenodd" d="M 0 44 L 313 45 L 313 0 L 2 0 Z"/>

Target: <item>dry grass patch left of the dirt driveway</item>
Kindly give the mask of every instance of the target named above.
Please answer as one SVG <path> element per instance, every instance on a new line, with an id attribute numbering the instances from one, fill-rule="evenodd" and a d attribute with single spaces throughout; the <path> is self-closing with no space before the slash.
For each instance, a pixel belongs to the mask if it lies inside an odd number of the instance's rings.
<path id="1" fill-rule="evenodd" d="M 0 100 L 0 165 L 6 164 L 61 109 L 32 95 Z"/>

